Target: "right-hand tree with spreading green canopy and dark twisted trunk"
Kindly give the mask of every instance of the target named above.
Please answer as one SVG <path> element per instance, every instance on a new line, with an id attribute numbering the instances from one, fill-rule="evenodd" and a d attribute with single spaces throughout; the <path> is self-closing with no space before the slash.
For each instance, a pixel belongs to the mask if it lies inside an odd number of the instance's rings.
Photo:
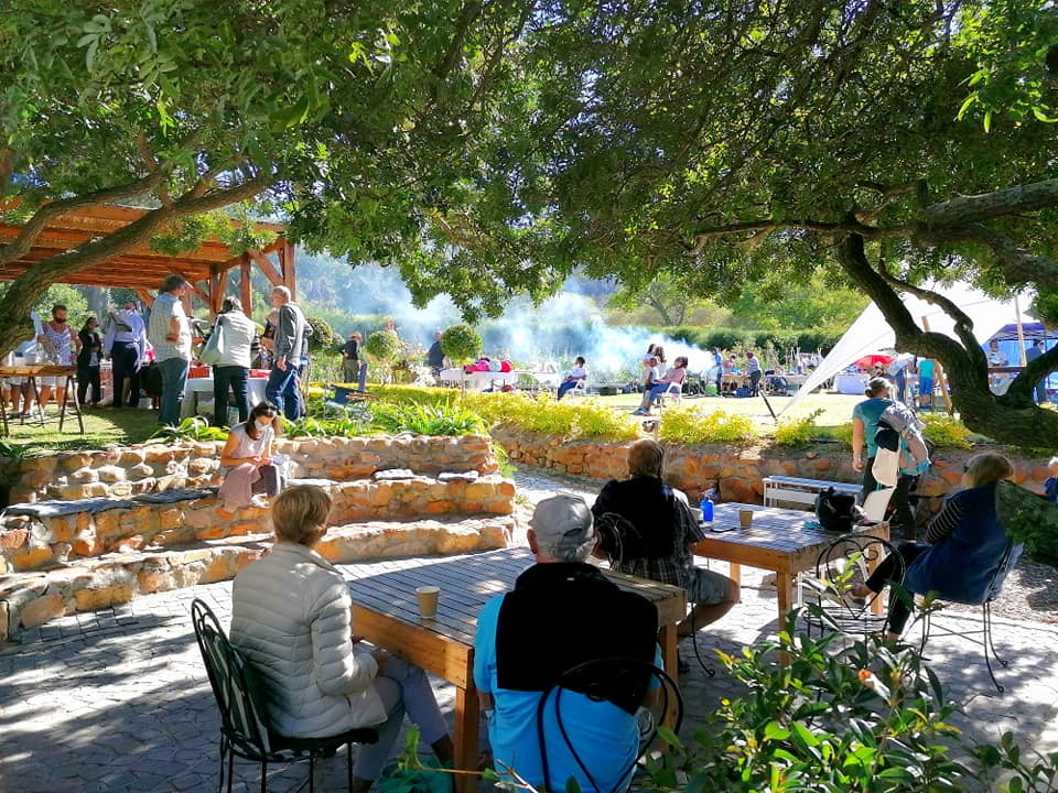
<path id="1" fill-rule="evenodd" d="M 1030 398 L 1058 350 L 993 397 L 967 323 L 922 333 L 898 298 L 964 321 L 918 285 L 970 279 L 1040 306 L 1058 293 L 1056 19 L 1045 0 L 548 3 L 520 91 L 475 152 L 472 208 L 442 213 L 406 274 L 475 311 L 497 278 L 536 287 L 543 262 L 546 278 L 667 273 L 730 302 L 830 270 L 902 349 L 944 365 L 968 425 L 1058 437 Z"/>

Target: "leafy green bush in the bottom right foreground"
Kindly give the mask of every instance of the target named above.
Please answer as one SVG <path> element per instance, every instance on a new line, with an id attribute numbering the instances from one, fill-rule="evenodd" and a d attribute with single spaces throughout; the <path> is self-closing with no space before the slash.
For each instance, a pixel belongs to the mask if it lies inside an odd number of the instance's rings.
<path id="1" fill-rule="evenodd" d="M 791 613 L 776 642 L 720 653 L 746 694 L 721 700 L 690 741 L 670 738 L 676 750 L 648 762 L 650 790 L 996 790 L 1001 770 L 1013 776 L 1005 790 L 1054 790 L 1058 754 L 1029 765 L 1011 734 L 997 748 L 967 746 L 972 761 L 950 747 L 960 736 L 948 721 L 954 705 L 914 649 L 836 631 L 814 640 L 795 632 L 797 620 Z"/>

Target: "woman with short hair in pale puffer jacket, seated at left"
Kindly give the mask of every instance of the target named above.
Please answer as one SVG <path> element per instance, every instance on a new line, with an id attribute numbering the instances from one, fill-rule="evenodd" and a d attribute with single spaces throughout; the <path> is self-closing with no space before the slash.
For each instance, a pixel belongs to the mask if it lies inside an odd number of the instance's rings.
<path id="1" fill-rule="evenodd" d="M 320 738 L 377 727 L 378 743 L 359 747 L 354 768 L 354 790 L 368 791 L 406 711 L 444 763 L 452 760 L 452 740 L 425 673 L 353 637 L 345 578 L 312 550 L 330 511 L 331 497 L 313 486 L 276 499 L 276 544 L 235 577 L 231 643 L 266 684 L 268 719 L 278 734 Z"/>

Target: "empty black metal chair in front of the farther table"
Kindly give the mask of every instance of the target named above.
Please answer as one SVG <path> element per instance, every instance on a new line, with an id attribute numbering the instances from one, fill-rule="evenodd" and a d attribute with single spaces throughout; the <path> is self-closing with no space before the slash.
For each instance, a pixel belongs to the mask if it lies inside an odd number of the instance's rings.
<path id="1" fill-rule="evenodd" d="M 853 597 L 852 590 L 890 556 L 889 586 L 867 598 Z M 818 607 L 805 610 L 809 636 L 813 629 L 818 629 L 820 636 L 828 630 L 884 634 L 889 622 L 886 593 L 889 598 L 908 597 L 903 589 L 905 572 L 904 558 L 890 542 L 871 534 L 842 534 L 820 552 L 814 577 L 801 578 L 801 585 L 812 590 Z"/>

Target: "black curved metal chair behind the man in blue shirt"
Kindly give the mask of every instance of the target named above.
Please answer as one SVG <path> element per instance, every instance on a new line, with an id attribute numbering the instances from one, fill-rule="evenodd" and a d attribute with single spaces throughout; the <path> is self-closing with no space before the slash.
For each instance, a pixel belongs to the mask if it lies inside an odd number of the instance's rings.
<path id="1" fill-rule="evenodd" d="M 680 694 L 679 684 L 672 680 L 663 670 L 654 664 L 649 664 L 635 658 L 604 658 L 585 661 L 566 670 L 561 680 L 549 688 L 540 697 L 537 706 L 537 732 L 541 747 L 541 765 L 543 768 L 544 786 L 543 790 L 564 790 L 565 780 L 557 780 L 559 786 L 551 786 L 550 769 L 544 738 L 544 711 L 550 705 L 553 708 L 559 730 L 562 739 L 573 756 L 577 767 L 584 773 L 584 776 L 591 782 L 591 790 L 601 790 L 592 774 L 591 769 L 584 765 L 584 762 L 577 756 L 570 736 L 566 734 L 562 724 L 561 699 L 564 692 L 573 691 L 584 694 L 591 699 L 614 702 L 618 707 L 625 707 L 628 710 L 635 708 L 646 697 L 649 689 L 650 680 L 657 680 L 659 683 L 660 696 L 655 697 L 652 705 L 647 707 L 643 705 L 636 713 L 636 721 L 639 726 L 639 752 L 636 756 L 631 767 L 627 769 L 629 775 L 635 770 L 639 760 L 647 753 L 651 743 L 658 735 L 658 725 L 665 714 L 669 711 L 669 705 L 674 706 L 676 724 L 672 732 L 679 732 L 683 723 L 683 697 Z"/>

